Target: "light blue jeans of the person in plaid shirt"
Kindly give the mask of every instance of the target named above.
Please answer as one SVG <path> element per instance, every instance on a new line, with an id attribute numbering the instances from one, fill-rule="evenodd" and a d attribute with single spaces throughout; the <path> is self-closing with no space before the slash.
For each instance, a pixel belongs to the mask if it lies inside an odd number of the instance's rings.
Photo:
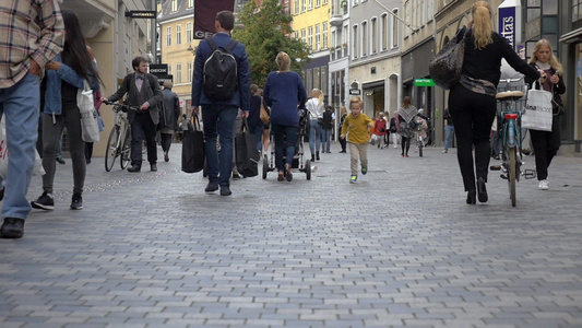
<path id="1" fill-rule="evenodd" d="M 33 175 L 36 139 L 38 137 L 38 106 L 40 82 L 38 75 L 27 74 L 19 83 L 0 89 L 0 115 L 7 122 L 10 155 L 2 216 L 26 219 L 31 203 L 26 192 Z M 1 181 L 0 177 L 0 183 Z"/>

